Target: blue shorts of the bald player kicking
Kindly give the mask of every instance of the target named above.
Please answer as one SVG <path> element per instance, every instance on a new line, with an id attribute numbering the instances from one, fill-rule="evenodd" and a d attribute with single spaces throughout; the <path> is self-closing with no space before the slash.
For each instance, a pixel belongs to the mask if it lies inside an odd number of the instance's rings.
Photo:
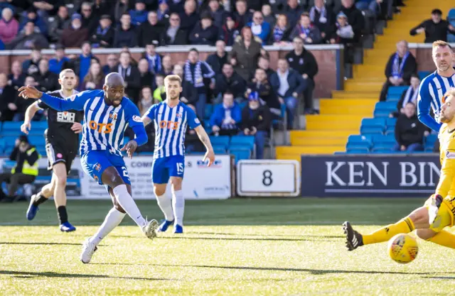
<path id="1" fill-rule="evenodd" d="M 125 165 L 122 156 L 112 154 L 109 150 L 89 151 L 82 155 L 80 164 L 82 165 L 82 170 L 100 185 L 103 185 L 101 175 L 109 167 L 116 168 L 120 177 L 122 177 L 123 182 L 131 185 L 127 165 Z"/>

